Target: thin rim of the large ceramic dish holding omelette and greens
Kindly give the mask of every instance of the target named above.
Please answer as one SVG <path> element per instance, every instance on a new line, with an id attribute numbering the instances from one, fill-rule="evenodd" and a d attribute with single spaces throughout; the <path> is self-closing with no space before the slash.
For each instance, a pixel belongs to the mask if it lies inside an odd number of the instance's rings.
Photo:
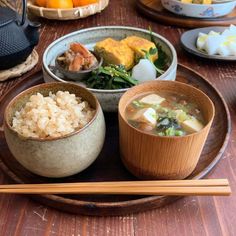
<path id="1" fill-rule="evenodd" d="M 51 78 L 53 78 L 54 80 L 60 81 L 60 82 L 64 82 L 67 83 L 66 80 L 59 78 L 58 76 L 56 76 L 54 73 L 52 73 L 52 71 L 49 69 L 49 65 L 46 65 L 46 57 L 48 55 L 48 52 L 50 49 L 52 49 L 57 43 L 59 43 L 60 41 L 70 38 L 71 36 L 74 36 L 76 34 L 80 34 L 80 33 L 86 33 L 89 31 L 94 31 L 94 30 L 103 30 L 103 29 L 124 29 L 124 30 L 133 30 L 133 31 L 138 31 L 138 32 L 143 32 L 143 33 L 149 33 L 148 30 L 142 29 L 142 28 L 138 28 L 138 27 L 130 27 L 130 26 L 121 26 L 121 25 L 116 25 L 116 26 L 98 26 L 98 27 L 90 27 L 90 28 L 85 28 L 82 30 L 78 30 L 78 31 L 74 31 L 72 33 L 66 34 L 60 38 L 58 38 L 57 40 L 55 40 L 54 42 L 52 42 L 44 51 L 43 53 L 43 69 L 49 74 L 49 76 Z M 170 52 L 172 54 L 172 61 L 168 67 L 168 69 L 164 72 L 164 74 L 169 74 L 170 71 L 177 65 L 177 53 L 176 50 L 174 48 L 174 46 L 170 43 L 170 41 L 168 39 L 166 39 L 165 37 L 153 32 L 152 33 L 155 37 L 158 37 L 163 43 L 165 43 L 168 48 L 170 49 Z M 160 75 L 159 77 L 163 76 L 164 74 Z M 157 77 L 156 79 L 158 79 L 159 77 Z M 87 87 L 86 87 L 87 88 Z M 93 88 L 87 88 L 89 91 L 91 92 L 96 92 L 96 93 L 123 93 L 125 91 L 127 91 L 129 88 L 123 88 L 123 89 L 93 89 Z"/>

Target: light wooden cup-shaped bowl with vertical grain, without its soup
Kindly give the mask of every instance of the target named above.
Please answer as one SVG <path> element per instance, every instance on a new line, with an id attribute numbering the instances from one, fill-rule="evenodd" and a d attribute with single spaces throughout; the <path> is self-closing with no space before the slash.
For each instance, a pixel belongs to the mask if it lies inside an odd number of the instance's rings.
<path id="1" fill-rule="evenodd" d="M 161 137 L 131 126 L 125 118 L 127 105 L 145 93 L 184 94 L 203 113 L 205 127 L 181 137 Z M 215 114 L 214 104 L 199 89 L 176 81 L 151 81 L 129 89 L 119 102 L 120 153 L 126 168 L 142 179 L 184 179 L 197 165 Z"/>

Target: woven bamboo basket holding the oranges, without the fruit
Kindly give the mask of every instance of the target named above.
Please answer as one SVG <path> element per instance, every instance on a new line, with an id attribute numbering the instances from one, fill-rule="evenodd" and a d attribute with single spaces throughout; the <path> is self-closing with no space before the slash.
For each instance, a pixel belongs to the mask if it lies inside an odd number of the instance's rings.
<path id="1" fill-rule="evenodd" d="M 85 18 L 104 10 L 109 4 L 109 0 L 99 0 L 98 3 L 90 5 L 75 7 L 71 9 L 53 9 L 39 7 L 33 3 L 32 0 L 28 1 L 28 11 L 36 16 L 51 19 L 51 20 L 76 20 Z"/>

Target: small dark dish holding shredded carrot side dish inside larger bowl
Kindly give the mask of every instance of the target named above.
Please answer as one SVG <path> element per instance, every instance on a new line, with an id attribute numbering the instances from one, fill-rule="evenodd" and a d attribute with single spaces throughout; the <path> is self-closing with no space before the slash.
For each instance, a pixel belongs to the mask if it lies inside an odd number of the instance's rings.
<path id="1" fill-rule="evenodd" d="M 90 51 L 91 52 L 91 51 Z M 98 64 L 97 66 L 94 66 L 88 70 L 81 70 L 81 71 L 69 71 L 66 70 L 65 68 L 63 68 L 62 65 L 60 65 L 60 63 L 58 62 L 58 60 L 56 59 L 55 61 L 55 69 L 57 69 L 61 74 L 64 75 L 65 79 L 69 79 L 69 80 L 74 80 L 74 81 L 81 81 L 85 78 L 87 78 L 92 71 L 98 69 L 102 63 L 103 63 L 103 58 L 100 57 L 99 55 L 96 55 L 95 53 L 91 52 L 98 60 Z M 58 57 L 60 57 L 62 54 L 60 54 Z"/>

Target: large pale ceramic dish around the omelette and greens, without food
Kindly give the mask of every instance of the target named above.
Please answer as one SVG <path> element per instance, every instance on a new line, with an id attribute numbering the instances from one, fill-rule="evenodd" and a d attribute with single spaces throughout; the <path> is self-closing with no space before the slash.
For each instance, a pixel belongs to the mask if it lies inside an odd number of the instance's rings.
<path id="1" fill-rule="evenodd" d="M 80 30 L 71 34 L 65 35 L 62 38 L 54 41 L 46 49 L 43 55 L 43 74 L 45 82 L 60 81 L 66 82 L 63 77 L 57 76 L 49 69 L 49 65 L 55 65 L 55 59 L 58 54 L 63 53 L 72 42 L 80 42 L 88 49 L 93 49 L 96 42 L 104 40 L 105 38 L 114 38 L 121 40 L 127 36 L 136 35 L 150 40 L 150 33 L 148 30 L 123 27 L 123 26 L 102 26 Z M 177 69 L 177 55 L 172 44 L 159 34 L 153 33 L 155 40 L 160 44 L 162 49 L 168 56 L 169 67 L 166 72 L 158 77 L 160 80 L 175 80 Z M 116 112 L 118 110 L 118 102 L 122 94 L 127 89 L 117 90 L 100 90 L 89 89 L 98 98 L 104 111 Z"/>

